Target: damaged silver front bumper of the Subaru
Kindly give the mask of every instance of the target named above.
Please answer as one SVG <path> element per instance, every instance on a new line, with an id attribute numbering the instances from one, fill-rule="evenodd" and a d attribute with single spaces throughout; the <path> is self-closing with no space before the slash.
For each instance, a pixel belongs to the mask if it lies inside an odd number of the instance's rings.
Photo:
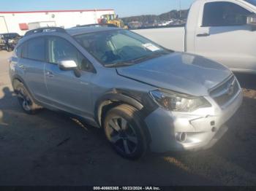
<path id="1" fill-rule="evenodd" d="M 198 150 L 212 147 L 227 131 L 225 122 L 241 106 L 243 93 L 239 90 L 225 108 L 218 106 L 210 97 L 207 99 L 211 102 L 211 107 L 197 109 L 192 113 L 168 112 L 158 108 L 148 115 L 145 122 L 151 134 L 151 151 Z"/>

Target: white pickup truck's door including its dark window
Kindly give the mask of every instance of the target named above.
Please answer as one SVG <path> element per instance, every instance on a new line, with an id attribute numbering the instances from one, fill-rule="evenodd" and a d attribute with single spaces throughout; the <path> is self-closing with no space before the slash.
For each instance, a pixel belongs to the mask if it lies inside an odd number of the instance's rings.
<path id="1" fill-rule="evenodd" d="M 195 31 L 195 52 L 233 70 L 256 71 L 256 31 L 246 25 L 253 12 L 238 1 L 206 1 Z"/>

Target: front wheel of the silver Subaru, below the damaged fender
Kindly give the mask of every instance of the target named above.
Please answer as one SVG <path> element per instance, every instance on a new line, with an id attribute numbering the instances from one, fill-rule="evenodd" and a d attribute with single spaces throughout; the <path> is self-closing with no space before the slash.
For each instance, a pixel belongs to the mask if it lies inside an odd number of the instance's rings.
<path id="1" fill-rule="evenodd" d="M 147 141 L 141 119 L 138 110 L 127 104 L 110 109 L 106 115 L 105 136 L 122 157 L 135 160 L 146 153 Z"/>

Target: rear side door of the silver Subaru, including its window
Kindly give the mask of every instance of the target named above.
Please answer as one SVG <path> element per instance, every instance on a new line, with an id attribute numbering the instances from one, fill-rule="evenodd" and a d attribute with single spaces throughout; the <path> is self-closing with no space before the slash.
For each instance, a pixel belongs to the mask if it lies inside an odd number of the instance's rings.
<path id="1" fill-rule="evenodd" d="M 45 86 L 45 38 L 29 39 L 23 44 L 18 69 L 24 81 L 38 101 L 48 104 L 48 91 Z"/>

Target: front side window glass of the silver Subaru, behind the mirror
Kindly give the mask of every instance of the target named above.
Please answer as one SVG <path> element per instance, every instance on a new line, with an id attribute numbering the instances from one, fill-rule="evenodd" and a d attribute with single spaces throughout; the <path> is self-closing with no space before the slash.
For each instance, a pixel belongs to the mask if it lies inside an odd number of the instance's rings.
<path id="1" fill-rule="evenodd" d="M 91 62 L 77 48 L 67 40 L 56 36 L 48 38 L 48 61 L 55 64 L 61 61 L 75 61 L 80 70 L 93 69 Z"/>

